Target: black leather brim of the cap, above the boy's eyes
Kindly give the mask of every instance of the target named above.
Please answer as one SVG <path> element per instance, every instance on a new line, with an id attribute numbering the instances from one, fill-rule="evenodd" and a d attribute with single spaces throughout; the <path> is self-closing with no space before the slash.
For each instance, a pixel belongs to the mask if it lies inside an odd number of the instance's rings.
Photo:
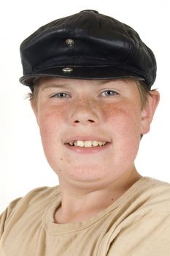
<path id="1" fill-rule="evenodd" d="M 65 70 L 65 72 L 63 71 Z M 39 70 L 35 74 L 23 75 L 20 78 L 20 83 L 25 86 L 34 86 L 34 80 L 41 77 L 56 77 L 56 78 L 72 78 L 85 80 L 107 80 L 119 78 L 132 78 L 135 80 L 144 80 L 142 75 L 122 67 L 53 67 Z"/>

